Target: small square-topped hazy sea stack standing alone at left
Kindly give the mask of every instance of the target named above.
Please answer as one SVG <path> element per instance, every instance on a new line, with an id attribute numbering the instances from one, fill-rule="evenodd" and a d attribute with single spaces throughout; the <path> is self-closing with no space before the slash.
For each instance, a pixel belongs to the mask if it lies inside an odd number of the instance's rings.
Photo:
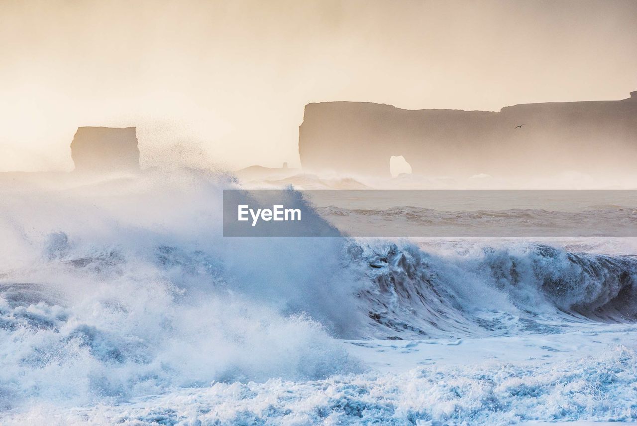
<path id="1" fill-rule="evenodd" d="M 140 170 L 136 129 L 80 127 L 71 142 L 71 157 L 77 172 Z"/>

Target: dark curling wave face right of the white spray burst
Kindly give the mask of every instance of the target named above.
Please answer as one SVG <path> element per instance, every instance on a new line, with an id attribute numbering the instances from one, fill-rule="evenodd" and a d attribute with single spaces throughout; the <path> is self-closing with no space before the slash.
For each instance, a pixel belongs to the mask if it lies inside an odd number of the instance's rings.
<path id="1" fill-rule="evenodd" d="M 636 319 L 637 256 L 517 245 L 443 258 L 395 244 L 359 248 L 357 256 L 374 283 L 361 297 L 386 334 L 541 333 L 557 332 L 562 321 Z M 506 321 L 487 320 L 492 314 Z"/>

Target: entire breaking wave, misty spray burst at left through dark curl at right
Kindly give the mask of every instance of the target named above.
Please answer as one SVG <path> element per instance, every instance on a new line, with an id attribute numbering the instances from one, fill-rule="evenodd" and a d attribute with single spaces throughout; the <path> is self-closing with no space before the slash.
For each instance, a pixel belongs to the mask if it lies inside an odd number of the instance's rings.
<path id="1" fill-rule="evenodd" d="M 183 170 L 1 188 L 0 408 L 364 371 L 334 337 L 543 334 L 637 316 L 634 256 L 223 239 L 220 189 L 234 186 Z"/>

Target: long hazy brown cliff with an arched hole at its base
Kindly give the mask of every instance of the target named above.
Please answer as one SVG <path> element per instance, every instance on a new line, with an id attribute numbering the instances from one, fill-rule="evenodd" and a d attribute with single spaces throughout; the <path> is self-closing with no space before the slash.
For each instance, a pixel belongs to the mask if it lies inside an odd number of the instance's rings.
<path id="1" fill-rule="evenodd" d="M 534 103 L 500 112 L 310 103 L 299 155 L 306 171 L 380 176 L 389 175 L 390 156 L 403 156 L 422 175 L 634 172 L 637 92 L 620 101 Z"/>

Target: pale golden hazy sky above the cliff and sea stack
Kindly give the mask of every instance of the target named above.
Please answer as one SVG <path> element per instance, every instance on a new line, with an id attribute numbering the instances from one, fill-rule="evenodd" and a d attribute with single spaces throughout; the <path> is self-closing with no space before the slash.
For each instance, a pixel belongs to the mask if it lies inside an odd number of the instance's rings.
<path id="1" fill-rule="evenodd" d="M 632 0 L 0 0 L 0 170 L 71 169 L 78 126 L 296 166 L 308 102 L 627 98 L 636 22 Z"/>

